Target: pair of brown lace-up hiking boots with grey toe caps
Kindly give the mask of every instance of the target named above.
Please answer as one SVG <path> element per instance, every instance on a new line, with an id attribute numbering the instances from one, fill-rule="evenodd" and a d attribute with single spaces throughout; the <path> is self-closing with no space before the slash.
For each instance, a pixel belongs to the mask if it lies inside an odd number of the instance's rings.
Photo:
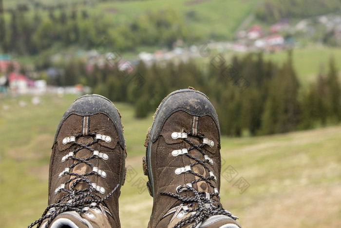
<path id="1" fill-rule="evenodd" d="M 220 203 L 220 129 L 205 94 L 189 88 L 168 95 L 156 110 L 145 146 L 143 170 L 153 197 L 149 228 L 241 227 Z M 126 156 L 114 104 L 100 95 L 78 98 L 57 128 L 49 206 L 29 227 L 120 227 Z"/>

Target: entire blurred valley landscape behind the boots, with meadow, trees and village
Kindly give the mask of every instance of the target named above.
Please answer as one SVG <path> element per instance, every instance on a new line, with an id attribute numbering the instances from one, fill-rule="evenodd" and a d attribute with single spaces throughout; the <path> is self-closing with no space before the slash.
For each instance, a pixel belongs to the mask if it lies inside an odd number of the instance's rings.
<path id="1" fill-rule="evenodd" d="M 0 227 L 41 216 L 57 124 L 84 93 L 120 110 L 121 225 L 146 227 L 145 134 L 161 100 L 188 86 L 217 110 L 222 203 L 244 227 L 341 226 L 340 0 L 0 6 Z"/>

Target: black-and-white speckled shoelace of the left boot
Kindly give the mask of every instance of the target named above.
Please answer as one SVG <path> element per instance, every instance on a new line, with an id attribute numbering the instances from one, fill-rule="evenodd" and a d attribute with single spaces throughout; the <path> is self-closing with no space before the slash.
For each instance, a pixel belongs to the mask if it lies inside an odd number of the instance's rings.
<path id="1" fill-rule="evenodd" d="M 101 209 L 99 204 L 102 204 L 111 195 L 113 195 L 114 191 L 117 189 L 117 187 L 119 187 L 119 184 L 117 184 L 116 187 L 110 193 L 108 193 L 105 197 L 103 197 L 101 199 L 98 199 L 98 197 L 96 197 L 95 195 L 92 194 L 93 191 L 96 191 L 96 190 L 98 191 L 98 189 L 96 188 L 98 186 L 96 184 L 94 184 L 92 181 L 90 181 L 90 179 L 87 178 L 86 176 L 98 175 L 99 173 L 98 173 L 98 169 L 96 169 L 96 167 L 88 161 L 90 159 L 94 159 L 94 158 L 101 158 L 101 157 L 103 158 L 103 154 L 98 153 L 98 151 L 96 151 L 95 149 L 93 149 L 89 146 L 97 143 L 100 140 L 102 140 L 102 138 L 99 137 L 99 134 L 89 133 L 88 136 L 94 136 L 95 139 L 94 139 L 94 141 L 92 141 L 86 145 L 83 145 L 83 144 L 76 142 L 76 139 L 81 137 L 81 136 L 83 136 L 83 134 L 79 133 L 79 134 L 74 136 L 75 137 L 74 141 L 71 141 L 71 142 L 68 141 L 68 143 L 72 143 L 73 145 L 79 146 L 75 150 L 73 150 L 71 153 L 75 154 L 77 151 L 79 151 L 83 148 L 86 148 L 86 149 L 92 151 L 94 154 L 90 157 L 85 158 L 85 159 L 77 158 L 75 156 L 68 156 L 67 157 L 68 159 L 73 159 L 73 160 L 76 160 L 77 162 L 72 164 L 71 166 L 69 166 L 67 169 L 70 170 L 71 168 L 75 167 L 76 165 L 78 165 L 80 163 L 85 163 L 88 166 L 91 166 L 93 168 L 93 171 L 88 172 L 88 173 L 84 173 L 84 174 L 79 174 L 79 173 L 73 173 L 73 172 L 69 172 L 69 171 L 64 170 L 61 174 L 59 174 L 59 175 L 75 176 L 74 178 L 69 179 L 67 182 L 65 182 L 65 184 L 62 185 L 65 187 L 67 184 L 73 182 L 70 185 L 69 190 L 65 189 L 64 187 L 61 187 L 61 188 L 58 187 L 55 191 L 56 194 L 58 193 L 58 191 L 64 191 L 64 192 L 67 192 L 67 194 L 65 196 L 63 196 L 61 199 L 59 199 L 57 201 L 57 203 L 49 205 L 45 209 L 41 218 L 39 218 L 38 220 L 33 222 L 31 225 L 29 225 L 28 228 L 32 228 L 35 225 L 37 225 L 37 227 L 40 227 L 40 225 L 42 224 L 42 222 L 45 219 L 48 219 L 45 227 L 49 227 L 51 222 L 57 217 L 58 214 L 66 212 L 66 211 L 76 211 L 78 213 L 85 213 L 90 208 L 96 207 L 98 209 Z M 65 138 L 65 139 L 67 139 L 67 138 Z M 95 167 L 95 169 L 94 169 L 94 167 Z M 76 187 L 76 184 L 78 184 L 80 182 L 87 183 L 89 187 L 88 188 L 82 188 L 80 190 L 74 190 L 74 188 Z"/>

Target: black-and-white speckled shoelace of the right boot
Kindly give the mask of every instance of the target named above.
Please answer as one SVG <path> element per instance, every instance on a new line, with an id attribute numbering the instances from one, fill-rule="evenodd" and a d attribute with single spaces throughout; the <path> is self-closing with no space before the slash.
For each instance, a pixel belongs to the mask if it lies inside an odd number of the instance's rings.
<path id="1" fill-rule="evenodd" d="M 204 136 L 202 135 L 192 135 L 191 133 L 188 134 L 188 136 L 192 136 L 192 137 L 197 137 L 199 138 L 201 141 L 207 140 L 205 139 Z M 202 143 L 199 145 L 195 145 L 194 143 L 192 143 L 190 140 L 188 140 L 187 138 L 182 138 L 182 140 L 184 140 L 186 143 L 188 143 L 189 145 L 191 145 L 189 148 L 187 148 L 187 150 L 192 150 L 192 149 L 197 149 L 198 151 L 201 152 L 201 154 L 204 157 L 204 160 L 200 160 L 192 155 L 190 155 L 189 153 L 183 153 L 182 155 L 188 156 L 189 158 L 193 159 L 195 162 L 191 163 L 189 166 L 195 166 L 195 165 L 202 165 L 204 166 L 204 168 L 206 170 L 208 170 L 208 173 L 212 173 L 209 169 L 208 166 L 206 166 L 206 163 L 210 163 L 211 159 L 209 159 L 208 155 L 205 153 L 204 151 L 204 147 L 208 146 L 207 143 Z M 209 152 L 209 151 L 208 151 Z M 212 215 L 226 215 L 234 220 L 237 220 L 238 217 L 235 215 L 232 215 L 231 212 L 229 212 L 228 210 L 225 210 L 222 205 L 219 203 L 219 201 L 217 201 L 216 199 L 213 198 L 213 196 L 216 196 L 218 198 L 220 198 L 218 189 L 214 187 L 214 185 L 211 183 L 210 180 L 215 179 L 214 175 L 210 175 L 209 177 L 204 177 L 196 172 L 194 172 L 192 169 L 186 170 L 186 173 L 191 173 L 195 176 L 198 176 L 199 178 L 192 181 L 190 184 L 186 184 L 186 185 L 182 185 L 177 187 L 175 193 L 172 192 L 160 192 L 160 194 L 162 195 L 168 195 L 171 197 L 174 197 L 180 201 L 182 201 L 183 203 L 187 203 L 186 205 L 186 212 L 187 213 L 191 213 L 190 216 L 182 219 L 181 221 L 179 221 L 174 228 L 181 228 L 185 225 L 191 224 L 193 223 L 193 225 L 191 226 L 191 228 L 195 228 L 200 222 L 204 221 L 206 218 L 212 216 Z M 200 182 L 200 181 L 205 181 L 209 186 L 211 186 L 214 189 L 213 193 L 208 193 L 208 192 L 200 192 L 197 189 L 193 188 L 192 185 Z M 180 195 L 180 193 L 184 190 L 187 191 L 192 191 L 194 196 L 184 196 L 184 195 Z M 194 204 L 197 204 L 198 206 L 195 208 L 190 208 L 192 207 Z M 214 203 L 217 203 L 217 206 L 214 206 Z M 175 213 L 175 212 L 174 212 Z"/>

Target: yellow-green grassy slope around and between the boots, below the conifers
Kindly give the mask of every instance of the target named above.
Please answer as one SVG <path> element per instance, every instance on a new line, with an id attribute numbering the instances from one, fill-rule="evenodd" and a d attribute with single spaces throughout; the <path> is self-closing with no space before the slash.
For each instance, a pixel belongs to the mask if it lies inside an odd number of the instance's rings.
<path id="1" fill-rule="evenodd" d="M 75 95 L 48 96 L 37 106 L 29 97 L 0 100 L 2 227 L 25 227 L 45 209 L 52 140 L 74 99 Z M 26 106 L 19 106 L 19 101 Z M 146 227 L 152 198 L 143 181 L 147 178 L 141 159 L 152 113 L 136 120 L 130 105 L 116 106 L 125 126 L 130 171 L 119 200 L 121 224 Z M 223 206 L 239 216 L 244 227 L 340 227 L 340 139 L 341 126 L 266 137 L 222 137 Z M 238 172 L 233 180 L 227 172 L 231 168 Z M 238 180 L 249 187 L 238 188 Z"/>

